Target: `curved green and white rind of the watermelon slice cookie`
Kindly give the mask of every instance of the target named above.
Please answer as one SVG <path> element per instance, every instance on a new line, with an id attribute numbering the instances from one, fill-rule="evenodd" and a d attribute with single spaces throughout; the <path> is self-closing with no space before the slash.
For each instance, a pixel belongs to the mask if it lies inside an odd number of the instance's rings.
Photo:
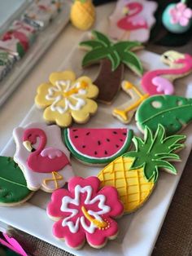
<path id="1" fill-rule="evenodd" d="M 128 148 L 130 147 L 130 145 L 132 143 L 132 138 L 133 138 L 133 130 L 128 130 L 128 134 L 127 134 L 127 138 L 125 139 L 124 147 L 121 148 L 120 152 L 116 153 L 116 155 L 113 157 L 104 157 L 104 158 L 94 159 L 94 158 L 90 158 L 90 157 L 85 157 L 82 154 L 79 154 L 78 152 L 76 152 L 76 148 L 69 141 L 69 130 L 70 129 L 62 129 L 62 138 L 63 138 L 63 142 L 66 144 L 69 151 L 72 152 L 72 156 L 76 157 L 80 161 L 84 161 L 86 163 L 95 164 L 95 165 L 107 164 L 107 163 L 115 160 L 117 157 L 120 157 L 122 154 L 124 154 L 124 152 L 126 150 L 128 150 Z"/>

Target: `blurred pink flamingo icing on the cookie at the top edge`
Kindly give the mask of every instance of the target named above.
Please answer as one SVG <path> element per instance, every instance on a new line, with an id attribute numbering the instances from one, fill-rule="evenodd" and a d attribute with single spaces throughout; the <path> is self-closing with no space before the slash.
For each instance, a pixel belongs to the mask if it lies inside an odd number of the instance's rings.
<path id="1" fill-rule="evenodd" d="M 130 2 L 126 5 L 131 14 L 119 20 L 117 26 L 124 30 L 148 29 L 146 20 L 138 14 L 142 12 L 142 4 L 139 2 Z"/>

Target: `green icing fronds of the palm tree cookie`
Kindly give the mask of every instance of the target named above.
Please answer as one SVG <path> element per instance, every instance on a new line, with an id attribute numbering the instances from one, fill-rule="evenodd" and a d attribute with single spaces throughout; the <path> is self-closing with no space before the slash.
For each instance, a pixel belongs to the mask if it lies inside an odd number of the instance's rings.
<path id="1" fill-rule="evenodd" d="M 80 43 L 80 46 L 89 48 L 89 52 L 85 54 L 82 60 L 82 66 L 94 64 L 99 60 L 111 60 L 111 71 L 115 71 L 121 63 L 133 70 L 139 76 L 143 73 L 142 63 L 131 50 L 141 48 L 140 42 L 111 42 L 107 36 L 98 31 L 92 31 L 93 39 Z"/>

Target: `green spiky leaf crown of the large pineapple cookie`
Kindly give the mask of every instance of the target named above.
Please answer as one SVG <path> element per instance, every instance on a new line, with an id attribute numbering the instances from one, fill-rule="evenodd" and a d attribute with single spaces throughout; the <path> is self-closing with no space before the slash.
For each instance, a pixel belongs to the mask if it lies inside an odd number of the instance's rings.
<path id="1" fill-rule="evenodd" d="M 168 170 L 171 174 L 177 174 L 177 170 L 169 161 L 180 161 L 180 157 L 174 153 L 185 147 L 182 143 L 185 135 L 172 135 L 166 137 L 164 126 L 158 125 L 155 135 L 149 127 L 145 126 L 144 139 L 133 137 L 136 150 L 127 152 L 123 157 L 133 157 L 130 170 L 143 168 L 148 181 L 156 182 L 159 177 L 159 169 Z"/>

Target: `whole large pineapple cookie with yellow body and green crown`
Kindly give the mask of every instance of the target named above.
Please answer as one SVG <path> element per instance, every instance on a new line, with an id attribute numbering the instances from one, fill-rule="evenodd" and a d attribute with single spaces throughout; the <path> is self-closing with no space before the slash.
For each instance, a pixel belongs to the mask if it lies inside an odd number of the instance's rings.
<path id="1" fill-rule="evenodd" d="M 144 140 L 133 137 L 135 151 L 116 158 L 99 174 L 102 186 L 113 186 L 124 203 L 124 213 L 132 213 L 140 208 L 155 188 L 159 169 L 177 174 L 169 161 L 180 161 L 175 153 L 184 148 L 181 143 L 185 135 L 165 136 L 164 126 L 159 125 L 153 136 L 146 126 Z"/>

